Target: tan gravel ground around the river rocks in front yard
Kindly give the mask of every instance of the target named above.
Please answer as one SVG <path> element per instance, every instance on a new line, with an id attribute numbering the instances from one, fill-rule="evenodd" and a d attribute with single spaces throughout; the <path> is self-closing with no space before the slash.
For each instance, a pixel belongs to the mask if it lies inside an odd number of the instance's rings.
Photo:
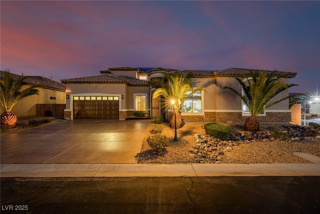
<path id="1" fill-rule="evenodd" d="M 181 128 L 177 129 L 178 141 L 174 142 L 174 129 L 168 127 L 167 123 L 162 123 L 164 128 L 162 133 L 170 139 L 170 146 L 163 152 L 156 153 L 147 144 L 146 138 L 151 135 L 153 123 L 149 123 L 145 131 L 144 140 L 141 151 L 136 155 L 138 163 L 159 163 L 159 164 L 174 164 L 174 163 L 311 163 L 308 160 L 302 159 L 293 154 L 293 152 L 307 152 L 320 157 L 320 138 L 314 136 L 300 137 L 299 140 L 279 140 L 279 139 L 252 139 L 246 141 L 223 141 L 216 142 L 223 147 L 231 145 L 230 151 L 218 154 L 218 151 L 207 150 L 207 157 L 209 155 L 215 157 L 213 161 L 206 161 L 198 158 L 195 147 L 206 147 L 195 142 L 194 134 L 201 134 L 205 136 L 205 131 L 202 128 L 203 123 L 185 123 Z M 245 133 L 243 131 L 243 124 L 224 124 L 231 129 L 231 134 Z M 288 126 L 288 125 L 286 125 Z M 283 124 L 260 124 L 261 131 L 286 130 Z M 240 142 L 240 143 L 239 143 Z M 214 142 L 213 142 L 214 143 Z M 224 148 L 223 147 L 223 148 Z M 205 148 L 204 148 L 205 149 Z M 192 154 L 193 151 L 193 154 Z M 203 150 L 202 150 L 203 151 Z M 214 154 L 214 152 L 216 154 Z M 216 159 L 218 157 L 218 160 Z M 198 158 L 198 159 L 197 159 Z"/>

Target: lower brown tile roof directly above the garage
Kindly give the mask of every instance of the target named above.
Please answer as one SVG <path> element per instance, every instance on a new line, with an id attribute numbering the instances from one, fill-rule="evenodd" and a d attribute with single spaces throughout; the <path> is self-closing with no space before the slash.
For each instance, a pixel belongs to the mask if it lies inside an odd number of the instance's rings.
<path id="1" fill-rule="evenodd" d="M 145 80 L 139 80 L 131 77 L 112 77 L 109 75 L 98 75 L 90 77 L 80 77 L 61 80 L 62 83 L 127 83 L 128 85 L 149 85 Z"/>

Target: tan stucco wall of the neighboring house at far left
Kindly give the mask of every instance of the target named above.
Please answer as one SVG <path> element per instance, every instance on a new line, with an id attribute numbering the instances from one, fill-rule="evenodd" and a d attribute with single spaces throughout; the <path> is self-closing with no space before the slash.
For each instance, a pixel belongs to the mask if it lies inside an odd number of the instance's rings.
<path id="1" fill-rule="evenodd" d="M 29 86 L 22 86 L 22 89 L 27 87 Z M 12 112 L 17 117 L 35 116 L 35 104 L 65 104 L 65 92 L 46 88 L 37 89 L 39 90 L 38 95 L 23 98 L 12 108 Z M 55 100 L 50 99 L 50 97 L 55 97 Z"/>

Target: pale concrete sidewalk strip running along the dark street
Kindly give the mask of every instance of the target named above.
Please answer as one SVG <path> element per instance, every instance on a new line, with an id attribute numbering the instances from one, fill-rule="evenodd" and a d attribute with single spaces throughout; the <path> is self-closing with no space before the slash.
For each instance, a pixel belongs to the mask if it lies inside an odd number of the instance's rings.
<path id="1" fill-rule="evenodd" d="M 320 176 L 320 164 L 0 164 L 0 177 L 178 176 Z"/>

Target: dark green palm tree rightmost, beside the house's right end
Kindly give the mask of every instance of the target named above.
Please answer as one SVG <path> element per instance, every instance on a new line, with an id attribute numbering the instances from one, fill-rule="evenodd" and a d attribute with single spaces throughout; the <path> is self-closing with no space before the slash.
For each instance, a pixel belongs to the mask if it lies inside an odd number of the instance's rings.
<path id="1" fill-rule="evenodd" d="M 267 75 L 266 71 L 250 71 L 251 80 L 246 75 L 243 75 L 243 79 L 234 78 L 238 81 L 243 89 L 243 94 L 236 91 L 233 88 L 224 86 L 223 89 L 229 89 L 238 95 L 243 103 L 247 106 L 250 113 L 250 117 L 245 120 L 244 129 L 247 131 L 258 131 L 259 120 L 257 115 L 262 113 L 265 109 L 274 106 L 275 104 L 290 98 L 290 96 L 282 97 L 278 100 L 272 100 L 280 92 L 297 84 L 285 84 L 279 79 L 285 77 L 284 75 L 276 76 L 276 71 L 272 71 Z M 247 81 L 247 85 L 245 82 Z M 270 102 L 269 102 L 270 101 Z"/>

